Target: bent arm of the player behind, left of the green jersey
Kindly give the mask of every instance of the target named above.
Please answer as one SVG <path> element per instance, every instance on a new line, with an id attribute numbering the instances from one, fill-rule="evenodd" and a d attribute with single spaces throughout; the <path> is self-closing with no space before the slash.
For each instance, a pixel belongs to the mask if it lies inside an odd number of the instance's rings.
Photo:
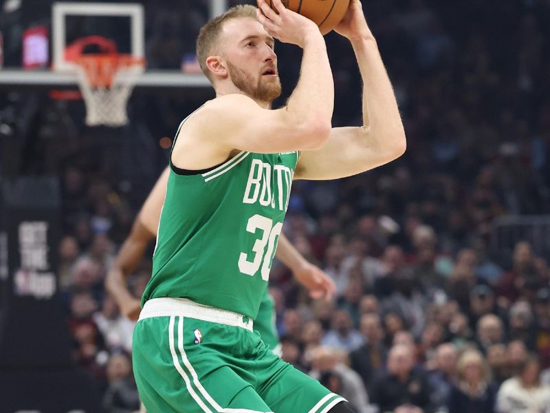
<path id="1" fill-rule="evenodd" d="M 105 279 L 107 291 L 117 302 L 122 315 L 129 319 L 135 320 L 140 314 L 140 300 L 130 293 L 126 281 L 142 260 L 149 242 L 157 234 L 160 211 L 166 196 L 168 173 L 169 170 L 166 168 L 149 193 L 133 223 L 130 235 L 120 247 Z"/>

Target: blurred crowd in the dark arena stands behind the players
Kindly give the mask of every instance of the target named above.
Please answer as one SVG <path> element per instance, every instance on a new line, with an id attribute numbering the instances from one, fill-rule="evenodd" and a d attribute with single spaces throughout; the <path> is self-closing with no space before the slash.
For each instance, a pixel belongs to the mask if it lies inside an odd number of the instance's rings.
<path id="1" fill-rule="evenodd" d="M 179 67 L 193 52 L 207 2 L 181 3 L 186 7 L 159 1 L 148 15 L 149 67 Z M 550 412 L 547 251 L 521 239 L 511 252 L 489 244 L 495 218 L 550 211 L 550 1 L 371 0 L 364 10 L 395 87 L 408 149 L 360 176 L 294 182 L 283 231 L 334 279 L 337 294 L 312 301 L 274 264 L 282 357 L 356 412 Z M 336 34 L 327 45 L 333 123 L 358 125 L 353 51 Z M 300 54 L 287 45 L 277 52 L 288 96 Z M 48 161 L 28 168 L 58 173 L 63 182 L 62 299 L 74 358 L 96 377 L 109 412 L 135 411 L 139 401 L 133 324 L 105 293 L 104 277 L 166 165 L 166 149 L 151 147 L 203 97 L 135 98 L 135 133 L 121 134 L 136 140 L 141 155 L 102 129 L 102 139 L 83 132 L 63 117 L 70 108 L 61 103 L 41 109 L 36 99 L 32 106 L 28 97 L 9 98 L 19 113 L 34 113 L 34 123 L 19 130 L 35 132 L 31 142 L 40 148 L 58 149 L 43 151 Z M 113 151 L 126 152 L 118 159 Z M 148 169 L 143 153 L 157 153 Z M 150 257 L 130 278 L 136 297 L 150 277 Z"/>

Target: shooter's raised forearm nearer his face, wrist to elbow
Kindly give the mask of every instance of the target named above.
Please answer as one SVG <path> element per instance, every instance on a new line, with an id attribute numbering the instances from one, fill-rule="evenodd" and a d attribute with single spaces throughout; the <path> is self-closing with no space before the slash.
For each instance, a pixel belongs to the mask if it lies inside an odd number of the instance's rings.
<path id="1" fill-rule="evenodd" d="M 304 45 L 300 79 L 287 102 L 287 113 L 294 125 L 318 128 L 319 133 L 331 128 L 334 108 L 334 81 L 327 56 L 327 46 L 317 31 Z"/>

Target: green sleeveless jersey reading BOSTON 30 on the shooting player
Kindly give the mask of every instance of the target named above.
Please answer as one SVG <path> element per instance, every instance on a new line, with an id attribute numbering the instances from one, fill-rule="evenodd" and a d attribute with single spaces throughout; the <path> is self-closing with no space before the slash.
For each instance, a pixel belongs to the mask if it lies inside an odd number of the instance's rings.
<path id="1" fill-rule="evenodd" d="M 296 151 L 241 151 L 206 171 L 170 162 L 142 305 L 181 297 L 256 318 L 297 161 Z"/>

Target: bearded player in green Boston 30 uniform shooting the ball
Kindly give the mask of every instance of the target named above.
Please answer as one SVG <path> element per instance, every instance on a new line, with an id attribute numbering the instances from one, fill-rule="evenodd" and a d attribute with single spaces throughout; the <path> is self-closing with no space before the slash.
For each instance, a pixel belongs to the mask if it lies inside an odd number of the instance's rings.
<path id="1" fill-rule="evenodd" d="M 148 412 L 341 413 L 344 399 L 270 352 L 252 332 L 293 178 L 334 179 L 404 152 L 391 83 L 352 0 L 336 31 L 353 45 L 364 81 L 362 127 L 331 129 L 333 79 L 309 19 L 274 0 L 263 14 L 236 6 L 209 21 L 197 56 L 216 98 L 179 126 L 133 337 Z M 287 105 L 274 37 L 303 48 Z"/>

